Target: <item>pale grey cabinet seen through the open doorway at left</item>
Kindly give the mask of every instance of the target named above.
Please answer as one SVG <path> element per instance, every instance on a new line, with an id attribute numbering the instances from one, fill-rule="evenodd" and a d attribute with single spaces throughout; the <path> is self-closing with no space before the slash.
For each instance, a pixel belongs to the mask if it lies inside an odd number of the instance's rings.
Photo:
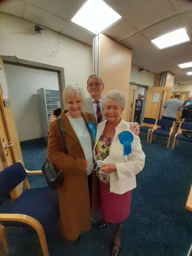
<path id="1" fill-rule="evenodd" d="M 60 92 L 59 89 L 41 88 L 37 90 L 37 94 L 43 138 L 47 142 L 49 117 L 54 109 L 60 108 L 61 106 Z"/>

